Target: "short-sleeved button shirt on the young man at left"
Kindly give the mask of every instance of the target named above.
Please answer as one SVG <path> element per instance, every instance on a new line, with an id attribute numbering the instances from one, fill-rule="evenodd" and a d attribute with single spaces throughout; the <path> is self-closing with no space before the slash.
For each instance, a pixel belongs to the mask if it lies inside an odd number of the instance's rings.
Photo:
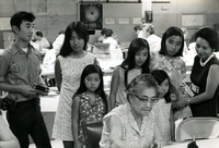
<path id="1" fill-rule="evenodd" d="M 3 52 L 0 53 L 0 83 L 11 85 L 39 85 L 41 54 L 30 44 L 27 53 L 16 44 L 12 42 Z M 38 97 L 34 96 L 34 97 Z M 27 98 L 22 94 L 9 92 L 9 99 L 26 101 Z"/>

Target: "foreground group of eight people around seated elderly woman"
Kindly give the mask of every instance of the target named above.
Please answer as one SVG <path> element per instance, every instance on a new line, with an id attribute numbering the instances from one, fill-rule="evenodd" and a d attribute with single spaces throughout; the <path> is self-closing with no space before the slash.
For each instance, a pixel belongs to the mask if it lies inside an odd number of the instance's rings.
<path id="1" fill-rule="evenodd" d="M 0 90 L 15 102 L 7 119 L 21 148 L 28 147 L 28 135 L 36 147 L 51 147 L 41 112 L 39 55 L 30 41 L 35 16 L 18 12 L 11 17 L 15 41 L 0 53 Z M 143 33 L 145 34 L 145 33 Z M 174 122 L 189 116 L 217 116 L 219 95 L 218 33 L 198 29 L 189 90 L 184 82 L 182 60 L 184 34 L 169 27 L 158 51 L 145 38 L 130 42 L 127 58 L 112 76 L 111 92 L 104 91 L 103 72 L 95 54 L 87 51 L 89 35 L 82 22 L 70 23 L 55 61 L 55 78 L 60 91 L 53 137 L 65 148 L 87 148 L 83 122 L 103 121 L 102 148 L 162 147 L 175 140 Z M 3 134 L 3 133 L 0 133 Z M 4 145 L 0 136 L 0 146 Z M 11 144 L 15 145 L 15 144 Z M 18 145 L 18 144 L 16 144 Z"/>

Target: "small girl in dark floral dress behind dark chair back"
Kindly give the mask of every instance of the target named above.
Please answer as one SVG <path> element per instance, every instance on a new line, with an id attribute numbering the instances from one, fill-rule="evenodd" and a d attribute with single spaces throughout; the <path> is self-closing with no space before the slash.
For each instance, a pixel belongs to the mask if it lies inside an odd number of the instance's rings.
<path id="1" fill-rule="evenodd" d="M 107 99 L 103 88 L 102 70 L 99 65 L 87 65 L 72 102 L 74 148 L 87 148 L 82 122 L 100 121 L 106 113 Z"/>

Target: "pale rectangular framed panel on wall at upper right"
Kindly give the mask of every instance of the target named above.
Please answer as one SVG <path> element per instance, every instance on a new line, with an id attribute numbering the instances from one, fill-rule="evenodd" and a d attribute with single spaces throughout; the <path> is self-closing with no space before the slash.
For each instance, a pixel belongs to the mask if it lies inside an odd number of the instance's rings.
<path id="1" fill-rule="evenodd" d="M 182 26 L 188 28 L 198 28 L 206 24 L 205 13 L 183 13 L 181 21 Z"/>

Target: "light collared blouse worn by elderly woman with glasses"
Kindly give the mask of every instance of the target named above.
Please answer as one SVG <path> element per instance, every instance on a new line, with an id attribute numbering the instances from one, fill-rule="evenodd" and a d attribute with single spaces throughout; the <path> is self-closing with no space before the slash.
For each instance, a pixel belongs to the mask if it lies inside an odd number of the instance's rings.
<path id="1" fill-rule="evenodd" d="M 110 130 L 106 126 L 112 115 L 117 116 L 122 122 L 122 139 L 130 148 L 150 148 L 153 141 L 154 121 L 153 114 L 142 118 L 142 125 L 139 130 L 136 120 L 130 111 L 130 104 L 125 103 L 113 109 L 103 119 L 103 132 L 100 141 L 101 148 L 111 148 Z"/>

